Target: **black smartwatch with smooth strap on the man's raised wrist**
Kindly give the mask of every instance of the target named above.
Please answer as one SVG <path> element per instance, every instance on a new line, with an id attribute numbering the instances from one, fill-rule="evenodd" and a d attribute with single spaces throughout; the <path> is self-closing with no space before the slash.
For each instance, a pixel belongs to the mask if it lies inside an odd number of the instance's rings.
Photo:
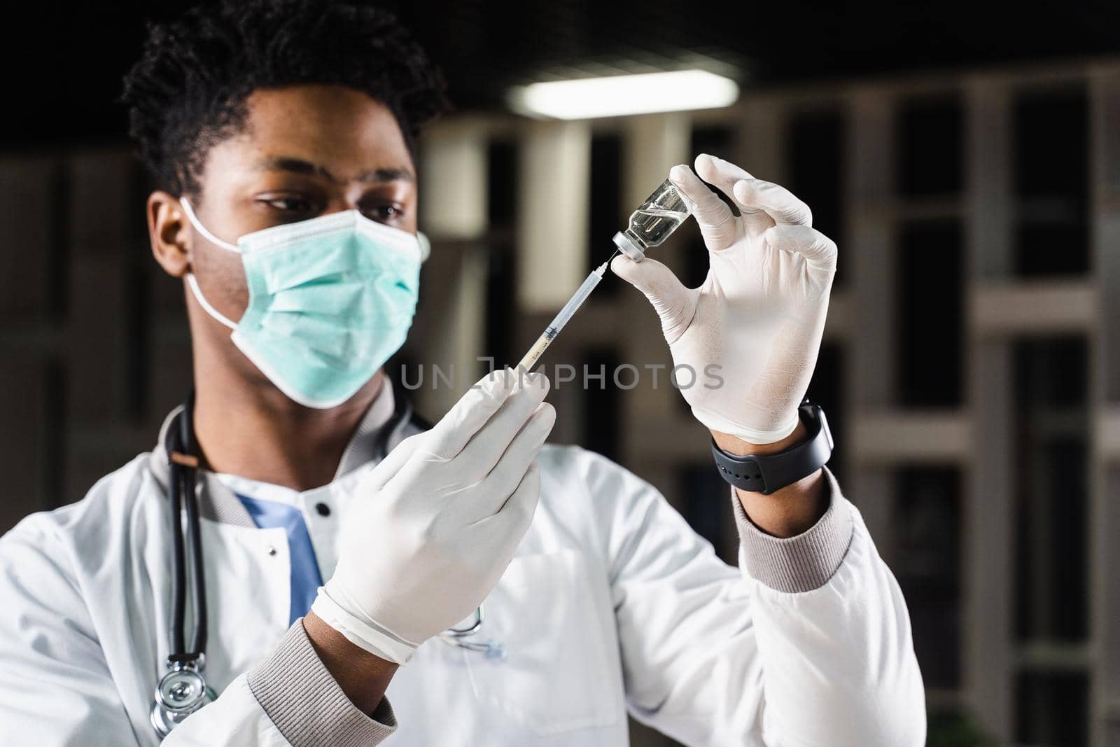
<path id="1" fill-rule="evenodd" d="M 739 456 L 719 448 L 712 439 L 711 456 L 724 479 L 737 488 L 769 495 L 828 464 L 833 441 L 824 410 L 806 401 L 797 409 L 797 414 L 809 428 L 809 438 L 778 454 Z"/>

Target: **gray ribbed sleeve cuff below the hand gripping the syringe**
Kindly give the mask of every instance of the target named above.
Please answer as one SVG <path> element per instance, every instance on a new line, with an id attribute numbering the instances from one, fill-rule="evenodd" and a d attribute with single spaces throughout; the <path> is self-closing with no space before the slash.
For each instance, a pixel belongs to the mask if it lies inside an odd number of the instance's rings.
<path id="1" fill-rule="evenodd" d="M 292 747 L 367 747 L 396 730 L 388 698 L 382 698 L 373 718 L 351 702 L 315 653 L 302 618 L 249 672 L 249 689 Z"/>

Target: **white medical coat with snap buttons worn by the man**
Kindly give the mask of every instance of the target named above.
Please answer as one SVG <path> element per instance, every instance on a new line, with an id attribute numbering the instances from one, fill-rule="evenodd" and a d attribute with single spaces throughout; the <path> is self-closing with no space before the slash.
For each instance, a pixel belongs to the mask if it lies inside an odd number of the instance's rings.
<path id="1" fill-rule="evenodd" d="M 374 718 L 345 698 L 301 623 L 289 629 L 284 531 L 255 527 L 200 473 L 205 675 L 221 697 L 165 744 L 605 747 L 627 744 L 627 711 L 689 745 L 924 744 L 906 605 L 831 475 L 829 513 L 791 540 L 758 532 L 732 498 L 740 570 L 609 460 L 545 446 L 539 463 L 540 505 L 478 634 L 506 657 L 428 641 Z M 0 745 L 158 744 L 165 465 L 157 447 L 0 539 Z M 300 496 L 324 578 L 348 507 L 375 498 L 354 494 L 360 473 Z"/>

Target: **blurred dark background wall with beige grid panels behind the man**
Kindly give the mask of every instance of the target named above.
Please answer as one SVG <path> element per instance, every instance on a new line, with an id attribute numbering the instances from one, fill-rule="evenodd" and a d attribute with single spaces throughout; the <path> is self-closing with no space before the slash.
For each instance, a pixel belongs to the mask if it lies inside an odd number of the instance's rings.
<path id="1" fill-rule="evenodd" d="M 673 164 L 709 152 L 786 185 L 840 245 L 810 394 L 906 595 L 930 744 L 1120 745 L 1118 11 L 1011 32 L 951 3 L 398 9 L 460 111 L 420 147 L 433 253 L 394 372 L 515 362 Z M 146 16 L 45 18 L 6 65 L 0 531 L 149 449 L 190 385 L 183 291 L 150 259 L 149 183 L 113 104 Z M 665 60 L 739 71 L 740 101 L 568 122 L 502 104 L 538 71 Z M 692 224 L 657 256 L 690 284 L 707 269 Z M 553 440 L 655 484 L 735 562 L 703 429 L 664 381 L 612 382 L 671 366 L 647 301 L 608 276 L 545 362 L 605 372 L 554 387 Z M 457 396 L 416 392 L 430 418 Z M 635 725 L 634 744 L 672 743 Z"/>

